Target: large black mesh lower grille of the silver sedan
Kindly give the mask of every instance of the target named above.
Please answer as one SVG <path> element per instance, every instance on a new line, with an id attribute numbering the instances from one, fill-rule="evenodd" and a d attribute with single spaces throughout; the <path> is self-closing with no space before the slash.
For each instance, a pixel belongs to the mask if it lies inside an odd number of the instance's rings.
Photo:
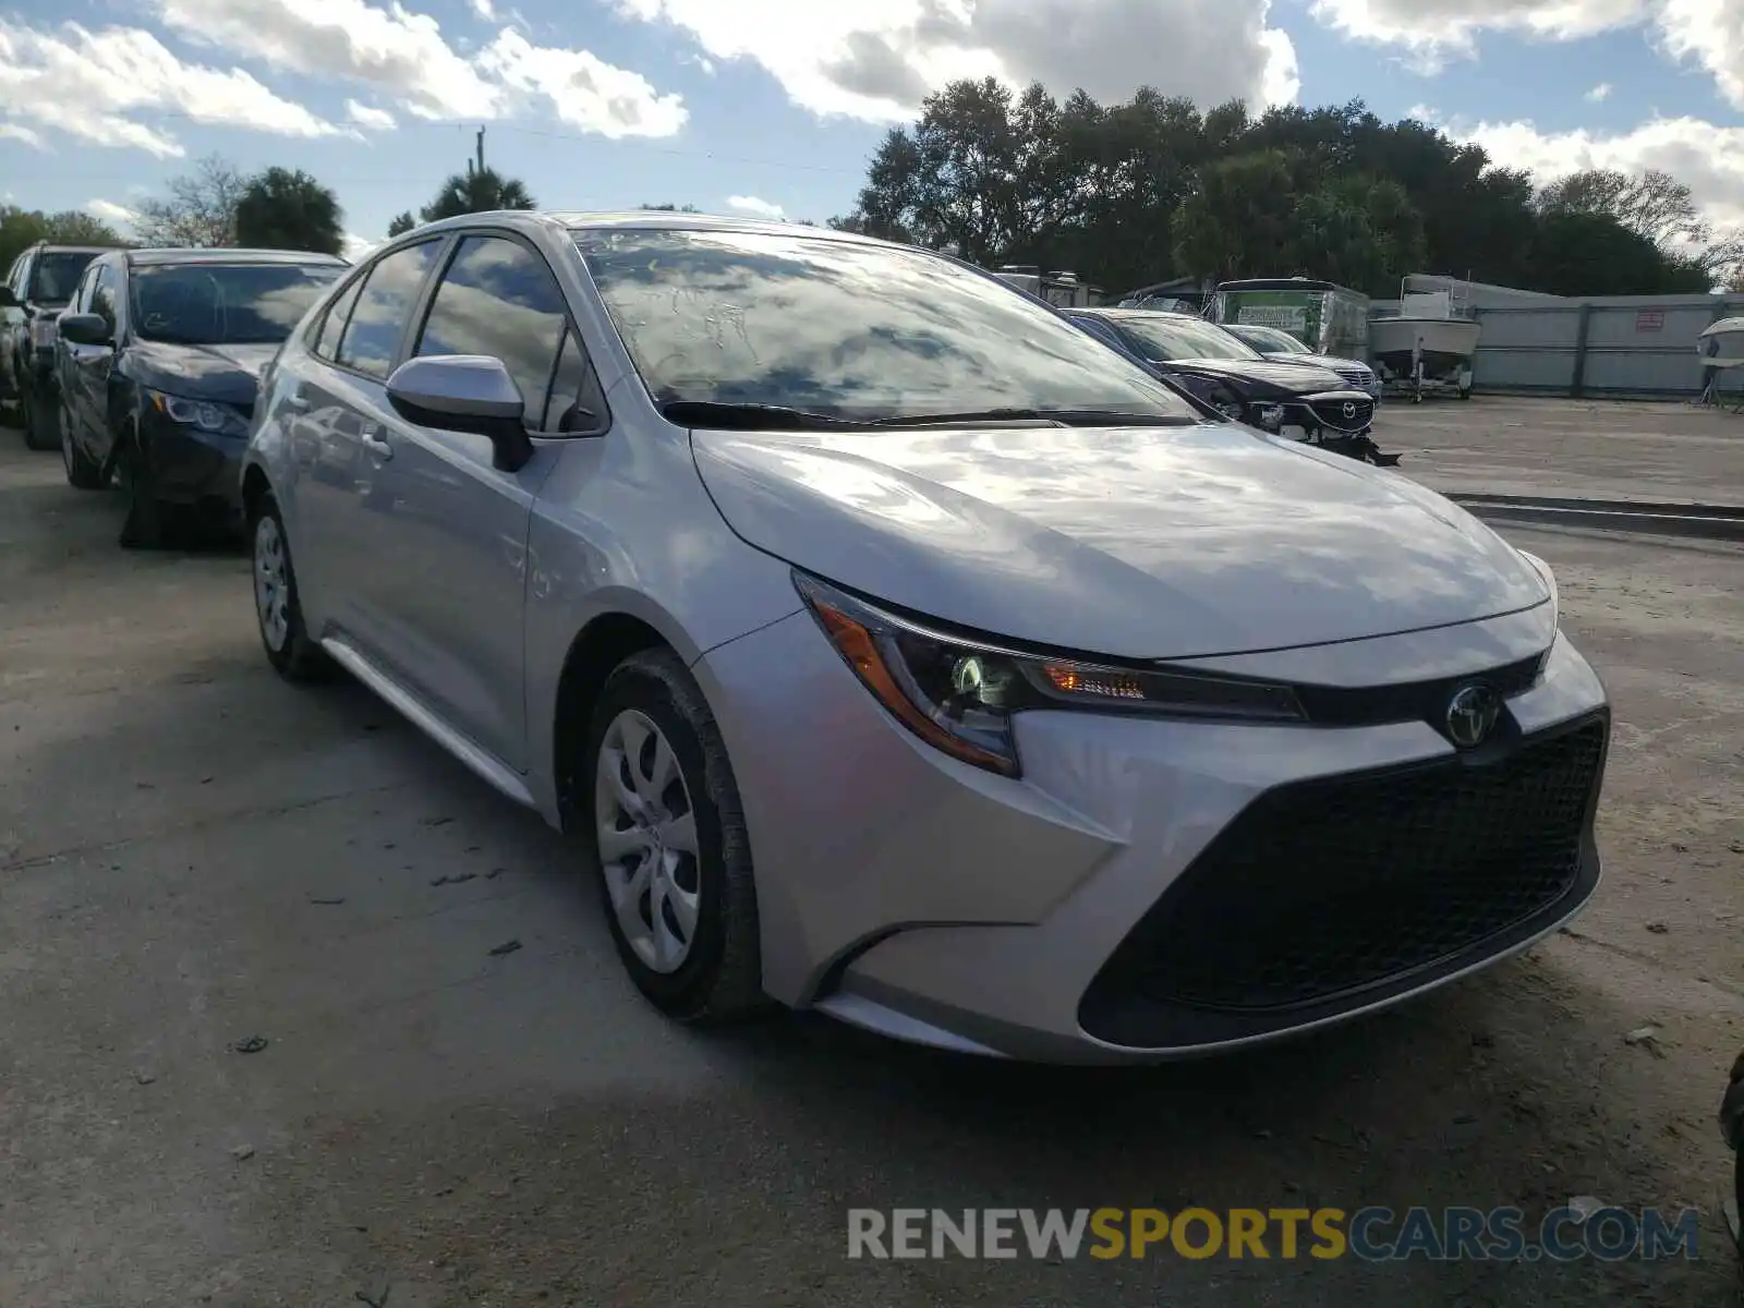
<path id="1" fill-rule="evenodd" d="M 1345 996 L 1350 1008 L 1366 991 L 1460 966 L 1575 888 L 1606 739 L 1598 715 L 1482 762 L 1266 792 L 1102 968 L 1085 1029 L 1099 1008 L 1134 1001 L 1278 1013 Z"/>

